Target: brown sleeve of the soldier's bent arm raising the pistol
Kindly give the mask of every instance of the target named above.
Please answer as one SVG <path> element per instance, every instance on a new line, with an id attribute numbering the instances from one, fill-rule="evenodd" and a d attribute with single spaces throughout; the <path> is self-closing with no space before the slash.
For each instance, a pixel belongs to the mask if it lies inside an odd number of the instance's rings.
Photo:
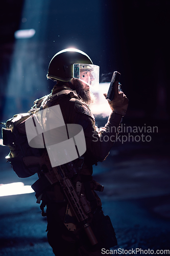
<path id="1" fill-rule="evenodd" d="M 122 115 L 112 112 L 105 127 L 100 130 L 95 126 L 94 116 L 86 104 L 76 100 L 72 115 L 74 122 L 83 127 L 87 153 L 97 161 L 103 161 L 115 142 Z"/>

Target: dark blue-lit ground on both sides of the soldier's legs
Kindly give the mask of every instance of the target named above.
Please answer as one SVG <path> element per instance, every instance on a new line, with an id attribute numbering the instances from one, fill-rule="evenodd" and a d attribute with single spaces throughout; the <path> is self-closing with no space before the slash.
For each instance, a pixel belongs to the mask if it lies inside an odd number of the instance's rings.
<path id="1" fill-rule="evenodd" d="M 0 151 L 0 183 L 31 185 L 37 180 L 36 175 L 18 178 L 4 160 L 8 148 L 1 146 Z M 127 255 L 135 254 L 132 249 L 141 250 L 135 251 L 138 255 L 168 254 L 169 164 L 168 128 L 161 126 L 151 142 L 117 141 L 107 160 L 94 166 L 94 180 L 105 186 L 99 193 L 104 214 L 110 216 L 118 241 L 112 250 L 121 254 L 124 249 Z M 46 219 L 41 217 L 34 193 L 0 197 L 0 207 L 0 255 L 54 255 L 46 239 Z"/>

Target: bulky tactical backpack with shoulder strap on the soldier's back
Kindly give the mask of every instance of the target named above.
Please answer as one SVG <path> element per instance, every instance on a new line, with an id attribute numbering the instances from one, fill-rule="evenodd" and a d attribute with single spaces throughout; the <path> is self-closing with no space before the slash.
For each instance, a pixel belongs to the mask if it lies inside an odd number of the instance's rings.
<path id="1" fill-rule="evenodd" d="M 42 158 L 45 148 L 33 148 L 29 145 L 26 135 L 25 121 L 32 118 L 39 110 L 50 108 L 60 99 L 78 98 L 71 90 L 62 90 L 54 95 L 47 95 L 34 101 L 34 106 L 28 113 L 16 114 L 7 120 L 2 128 L 3 144 L 10 148 L 6 156 L 19 178 L 27 178 L 40 172 L 40 165 L 35 159 Z"/>

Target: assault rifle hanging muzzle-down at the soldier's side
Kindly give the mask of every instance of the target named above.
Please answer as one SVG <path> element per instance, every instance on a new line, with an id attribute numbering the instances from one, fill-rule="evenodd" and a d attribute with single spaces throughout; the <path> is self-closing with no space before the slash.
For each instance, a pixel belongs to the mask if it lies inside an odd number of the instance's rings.
<path id="1" fill-rule="evenodd" d="M 81 224 L 81 226 L 85 230 L 90 240 L 90 243 L 92 245 L 97 244 L 98 241 L 96 240 L 94 233 L 88 223 L 88 219 L 89 219 L 88 214 L 91 212 L 91 208 L 83 194 L 81 194 L 80 197 L 78 196 L 78 193 L 70 179 L 77 174 L 77 167 L 74 165 L 74 163 L 69 162 L 60 166 L 52 167 L 50 164 L 50 161 L 48 161 L 47 154 L 43 155 L 42 158 L 39 158 L 39 157 L 31 157 L 31 158 L 32 158 L 32 163 L 34 158 L 34 164 L 40 164 L 43 175 L 51 184 L 54 184 L 56 182 L 60 183 L 61 188 L 69 202 L 69 205 L 74 211 L 74 214 L 78 222 Z M 29 165 L 29 162 L 30 162 L 29 157 L 23 158 L 23 161 L 25 162 L 26 165 Z M 36 193 L 37 193 L 36 187 L 39 180 L 37 180 L 32 185 L 32 188 L 36 191 Z"/>

